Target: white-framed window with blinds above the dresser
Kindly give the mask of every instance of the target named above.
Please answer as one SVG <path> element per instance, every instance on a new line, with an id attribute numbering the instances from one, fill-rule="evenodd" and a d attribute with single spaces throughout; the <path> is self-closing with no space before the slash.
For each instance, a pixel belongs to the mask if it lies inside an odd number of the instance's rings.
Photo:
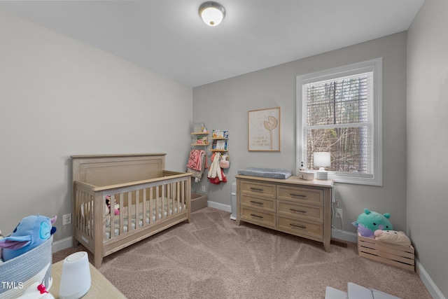
<path id="1" fill-rule="evenodd" d="M 330 152 L 328 179 L 381 186 L 382 60 L 297 76 L 297 170 Z"/>

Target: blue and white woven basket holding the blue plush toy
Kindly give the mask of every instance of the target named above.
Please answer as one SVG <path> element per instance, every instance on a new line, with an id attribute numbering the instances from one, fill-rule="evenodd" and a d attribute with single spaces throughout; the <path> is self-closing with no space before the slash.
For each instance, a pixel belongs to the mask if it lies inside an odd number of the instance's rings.
<path id="1" fill-rule="evenodd" d="M 50 289 L 52 241 L 51 236 L 36 248 L 0 263 L 0 299 L 17 298 L 36 282 Z"/>

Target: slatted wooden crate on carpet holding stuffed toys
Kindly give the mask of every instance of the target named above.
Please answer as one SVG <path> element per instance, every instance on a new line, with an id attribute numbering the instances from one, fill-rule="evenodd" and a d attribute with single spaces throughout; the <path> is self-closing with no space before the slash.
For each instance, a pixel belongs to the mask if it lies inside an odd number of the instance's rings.
<path id="1" fill-rule="evenodd" d="M 406 270 L 415 271 L 414 247 L 389 244 L 358 233 L 358 254 Z"/>

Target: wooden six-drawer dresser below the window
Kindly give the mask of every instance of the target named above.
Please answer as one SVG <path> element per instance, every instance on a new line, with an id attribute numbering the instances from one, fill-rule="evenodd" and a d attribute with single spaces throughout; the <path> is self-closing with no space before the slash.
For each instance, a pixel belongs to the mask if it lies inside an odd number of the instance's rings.
<path id="1" fill-rule="evenodd" d="M 244 221 L 313 239 L 330 251 L 332 180 L 235 177 L 237 225 Z"/>

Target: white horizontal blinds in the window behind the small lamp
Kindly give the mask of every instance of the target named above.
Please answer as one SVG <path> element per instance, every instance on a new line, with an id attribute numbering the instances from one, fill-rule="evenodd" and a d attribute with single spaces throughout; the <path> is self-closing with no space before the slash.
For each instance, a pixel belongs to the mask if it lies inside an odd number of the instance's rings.
<path id="1" fill-rule="evenodd" d="M 368 71 L 302 85 L 307 167 L 314 167 L 312 153 L 330 151 L 328 170 L 372 176 L 372 75 Z"/>

